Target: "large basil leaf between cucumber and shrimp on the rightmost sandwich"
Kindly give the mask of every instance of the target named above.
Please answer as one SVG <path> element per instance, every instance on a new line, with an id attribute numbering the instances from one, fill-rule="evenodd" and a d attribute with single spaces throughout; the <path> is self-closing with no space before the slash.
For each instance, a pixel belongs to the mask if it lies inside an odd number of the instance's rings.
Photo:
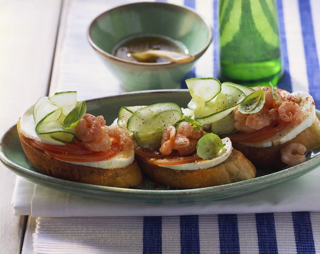
<path id="1" fill-rule="evenodd" d="M 240 103 L 238 111 L 244 114 L 253 114 L 259 112 L 266 102 L 266 95 L 261 89 L 256 90 L 246 96 Z"/>

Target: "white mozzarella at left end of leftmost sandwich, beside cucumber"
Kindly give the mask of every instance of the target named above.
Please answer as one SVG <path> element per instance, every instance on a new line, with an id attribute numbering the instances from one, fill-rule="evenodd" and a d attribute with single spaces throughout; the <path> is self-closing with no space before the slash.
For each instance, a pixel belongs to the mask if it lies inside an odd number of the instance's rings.
<path id="1" fill-rule="evenodd" d="M 50 145 L 65 145 L 65 143 L 54 140 L 50 134 L 36 134 L 36 124 L 33 119 L 33 106 L 31 105 L 20 118 L 21 133 L 27 138 Z"/>

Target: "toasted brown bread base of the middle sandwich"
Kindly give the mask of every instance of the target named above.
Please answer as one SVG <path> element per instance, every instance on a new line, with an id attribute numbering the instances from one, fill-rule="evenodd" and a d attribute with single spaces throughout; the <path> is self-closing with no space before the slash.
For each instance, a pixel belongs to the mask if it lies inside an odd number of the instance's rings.
<path id="1" fill-rule="evenodd" d="M 154 181 L 182 188 L 195 189 L 228 184 L 255 177 L 256 169 L 244 155 L 233 149 L 232 153 L 224 162 L 198 170 L 175 170 L 160 167 L 147 162 L 136 154 L 136 159 L 142 171 Z"/>

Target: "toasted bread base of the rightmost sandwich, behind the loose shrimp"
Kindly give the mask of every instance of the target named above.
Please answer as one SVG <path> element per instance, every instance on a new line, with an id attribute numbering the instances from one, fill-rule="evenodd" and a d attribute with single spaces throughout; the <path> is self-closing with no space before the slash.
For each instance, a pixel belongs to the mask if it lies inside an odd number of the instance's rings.
<path id="1" fill-rule="evenodd" d="M 232 146 L 242 152 L 257 168 L 272 167 L 280 169 L 286 164 L 281 161 L 280 149 L 290 143 L 300 143 L 308 151 L 320 146 L 320 122 L 316 117 L 313 124 L 300 132 L 295 138 L 283 144 L 270 147 L 251 147 L 244 144 L 232 142 Z"/>

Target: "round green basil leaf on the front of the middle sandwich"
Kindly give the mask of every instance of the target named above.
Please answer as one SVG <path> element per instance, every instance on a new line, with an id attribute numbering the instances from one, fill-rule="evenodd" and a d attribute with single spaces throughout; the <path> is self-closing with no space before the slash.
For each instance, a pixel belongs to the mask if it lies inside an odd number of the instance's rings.
<path id="1" fill-rule="evenodd" d="M 197 143 L 197 154 L 204 160 L 212 159 L 225 145 L 218 135 L 209 133 L 199 139 Z"/>

